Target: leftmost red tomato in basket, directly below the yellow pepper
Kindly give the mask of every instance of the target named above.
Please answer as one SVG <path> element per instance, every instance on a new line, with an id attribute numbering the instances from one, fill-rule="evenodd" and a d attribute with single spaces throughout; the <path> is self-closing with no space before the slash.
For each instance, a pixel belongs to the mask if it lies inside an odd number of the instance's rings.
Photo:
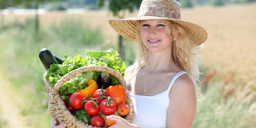
<path id="1" fill-rule="evenodd" d="M 83 95 L 79 92 L 72 93 L 69 99 L 70 106 L 74 109 L 81 109 L 83 107 L 83 104 L 81 104 L 83 98 Z"/>

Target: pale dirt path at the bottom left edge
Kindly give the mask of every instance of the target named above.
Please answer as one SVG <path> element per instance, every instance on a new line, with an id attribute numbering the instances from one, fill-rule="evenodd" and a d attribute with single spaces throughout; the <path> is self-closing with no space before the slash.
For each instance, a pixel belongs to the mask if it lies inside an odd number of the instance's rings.
<path id="1" fill-rule="evenodd" d="M 22 98 L 17 91 L 13 90 L 10 83 L 4 79 L 0 71 L 0 120 L 5 123 L 4 128 L 28 128 L 28 120 L 20 115 L 20 104 Z"/>

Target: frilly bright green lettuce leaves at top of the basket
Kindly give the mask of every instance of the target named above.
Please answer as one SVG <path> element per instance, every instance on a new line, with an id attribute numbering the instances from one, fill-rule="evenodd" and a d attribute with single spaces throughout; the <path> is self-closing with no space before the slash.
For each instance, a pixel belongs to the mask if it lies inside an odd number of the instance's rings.
<path id="1" fill-rule="evenodd" d="M 68 74 L 68 72 L 71 72 L 72 70 L 84 66 L 102 66 L 113 68 L 123 77 L 126 68 L 125 63 L 119 57 L 118 52 L 114 51 L 113 49 L 108 49 L 108 51 L 86 50 L 84 57 L 78 54 L 72 58 L 65 54 L 64 62 L 61 65 L 52 64 L 47 70 L 45 79 L 48 80 L 48 83 L 51 84 L 51 86 L 54 86 L 62 76 Z M 77 74 L 61 86 L 59 89 L 60 95 L 67 95 L 69 93 L 76 92 L 77 89 L 85 88 L 83 83 L 89 81 L 90 79 L 97 81 L 99 74 L 100 72 L 96 71 Z M 115 77 L 111 76 L 111 79 L 113 85 L 120 84 Z"/>

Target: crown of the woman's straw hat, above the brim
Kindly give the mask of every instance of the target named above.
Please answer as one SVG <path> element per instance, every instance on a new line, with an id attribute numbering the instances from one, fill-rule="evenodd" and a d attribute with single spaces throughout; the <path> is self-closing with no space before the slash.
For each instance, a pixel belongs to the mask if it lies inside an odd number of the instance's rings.
<path id="1" fill-rule="evenodd" d="M 176 0 L 143 0 L 137 17 L 144 16 L 180 20 L 180 6 Z"/>

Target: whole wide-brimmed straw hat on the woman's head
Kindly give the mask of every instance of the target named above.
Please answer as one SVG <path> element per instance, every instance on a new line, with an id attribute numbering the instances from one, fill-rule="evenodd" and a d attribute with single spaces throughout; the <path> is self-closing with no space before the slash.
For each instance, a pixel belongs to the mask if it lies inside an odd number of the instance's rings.
<path id="1" fill-rule="evenodd" d="M 176 0 L 143 0 L 137 17 L 108 20 L 111 27 L 120 35 L 134 41 L 136 39 L 137 20 L 172 20 L 188 31 L 189 37 L 196 45 L 205 42 L 207 32 L 204 28 L 180 20 L 180 6 Z"/>

